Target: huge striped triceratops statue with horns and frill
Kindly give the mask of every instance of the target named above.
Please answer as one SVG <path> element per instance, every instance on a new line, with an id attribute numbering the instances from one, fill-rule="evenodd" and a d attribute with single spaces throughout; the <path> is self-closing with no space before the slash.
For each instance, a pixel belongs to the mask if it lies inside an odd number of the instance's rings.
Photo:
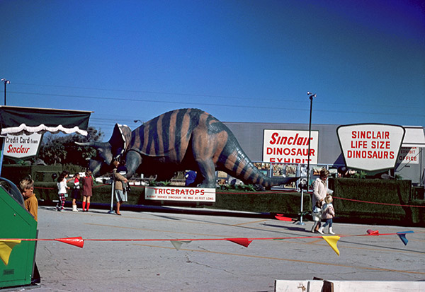
<path id="1" fill-rule="evenodd" d="M 266 177 L 246 156 L 234 134 L 212 115 L 198 109 L 166 112 L 134 131 L 115 124 L 108 142 L 79 143 L 97 149 L 89 168 L 95 176 L 111 170 L 114 159 L 126 160 L 131 177 L 137 170 L 170 179 L 176 171 L 196 170 L 198 187 L 215 187 L 215 170 L 222 170 L 246 184 L 274 185 L 294 182 L 298 177 Z"/>

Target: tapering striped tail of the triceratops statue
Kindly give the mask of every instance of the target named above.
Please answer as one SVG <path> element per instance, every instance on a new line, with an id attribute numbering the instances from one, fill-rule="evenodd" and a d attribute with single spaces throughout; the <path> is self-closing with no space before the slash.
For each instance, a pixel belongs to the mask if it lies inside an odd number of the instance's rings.
<path id="1" fill-rule="evenodd" d="M 276 185 L 285 185 L 297 181 L 300 177 L 267 177 L 256 168 L 254 163 L 244 153 L 237 139 L 229 134 L 227 146 L 220 156 L 222 170 L 229 175 L 242 180 L 245 184 L 259 184 L 270 189 Z M 218 166 L 218 165 L 217 165 Z"/>

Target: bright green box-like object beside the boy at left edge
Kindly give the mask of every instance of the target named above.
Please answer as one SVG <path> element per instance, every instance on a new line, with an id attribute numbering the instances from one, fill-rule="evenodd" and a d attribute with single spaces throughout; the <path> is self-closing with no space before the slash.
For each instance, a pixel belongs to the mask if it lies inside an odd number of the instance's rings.
<path id="1" fill-rule="evenodd" d="M 23 206 L 21 192 L 13 182 L 0 177 L 0 241 L 36 237 L 37 221 Z M 8 264 L 0 259 L 0 288 L 31 284 L 35 246 L 34 240 L 21 241 L 11 250 Z"/>

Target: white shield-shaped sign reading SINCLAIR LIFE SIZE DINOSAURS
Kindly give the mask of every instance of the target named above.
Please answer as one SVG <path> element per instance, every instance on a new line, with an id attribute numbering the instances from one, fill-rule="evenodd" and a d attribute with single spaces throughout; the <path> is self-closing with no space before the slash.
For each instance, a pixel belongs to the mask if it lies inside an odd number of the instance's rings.
<path id="1" fill-rule="evenodd" d="M 351 124 L 336 129 L 348 168 L 386 170 L 395 168 L 404 138 L 402 126 Z"/>

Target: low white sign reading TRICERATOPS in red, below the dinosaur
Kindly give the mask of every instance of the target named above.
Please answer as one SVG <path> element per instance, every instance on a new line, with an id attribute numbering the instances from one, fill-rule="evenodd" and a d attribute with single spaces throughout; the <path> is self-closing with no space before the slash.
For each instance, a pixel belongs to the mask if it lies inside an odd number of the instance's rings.
<path id="1" fill-rule="evenodd" d="M 145 199 L 159 201 L 215 202 L 215 189 L 199 187 L 146 187 Z"/>

